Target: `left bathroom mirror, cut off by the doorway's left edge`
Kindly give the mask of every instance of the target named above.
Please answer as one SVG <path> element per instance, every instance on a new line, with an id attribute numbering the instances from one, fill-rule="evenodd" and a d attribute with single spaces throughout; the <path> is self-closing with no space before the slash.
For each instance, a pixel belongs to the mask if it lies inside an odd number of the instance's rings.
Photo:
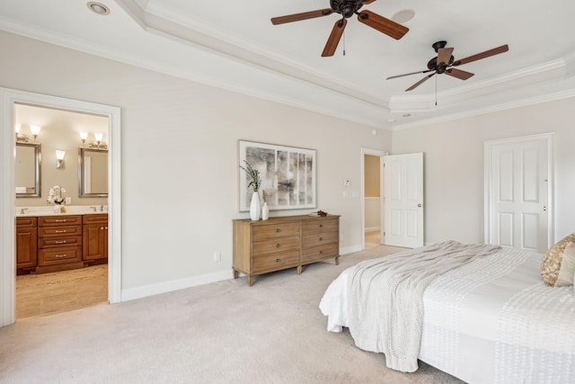
<path id="1" fill-rule="evenodd" d="M 41 145 L 16 143 L 14 185 L 16 197 L 40 197 Z"/>

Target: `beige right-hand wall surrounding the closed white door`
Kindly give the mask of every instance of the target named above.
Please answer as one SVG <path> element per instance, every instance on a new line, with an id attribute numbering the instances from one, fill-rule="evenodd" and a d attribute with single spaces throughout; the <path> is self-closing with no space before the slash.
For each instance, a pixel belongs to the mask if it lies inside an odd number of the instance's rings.
<path id="1" fill-rule="evenodd" d="M 483 241 L 483 144 L 554 133 L 555 239 L 575 232 L 575 98 L 394 132 L 394 154 L 423 152 L 425 242 Z"/>

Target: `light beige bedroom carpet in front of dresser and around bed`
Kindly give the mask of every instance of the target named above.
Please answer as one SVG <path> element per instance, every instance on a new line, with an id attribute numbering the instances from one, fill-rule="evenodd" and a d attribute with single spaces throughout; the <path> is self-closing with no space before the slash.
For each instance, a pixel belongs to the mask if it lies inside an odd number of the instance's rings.
<path id="1" fill-rule="evenodd" d="M 0 328 L 3 383 L 458 383 L 421 364 L 401 373 L 385 356 L 326 331 L 329 283 L 377 246 L 316 263 L 187 290 L 101 304 Z M 230 274 L 232 272 L 230 271 Z"/>

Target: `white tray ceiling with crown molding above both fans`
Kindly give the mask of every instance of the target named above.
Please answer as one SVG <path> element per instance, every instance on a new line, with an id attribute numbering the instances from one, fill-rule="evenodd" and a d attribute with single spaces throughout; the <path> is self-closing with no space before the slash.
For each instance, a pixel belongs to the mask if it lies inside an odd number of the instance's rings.
<path id="1" fill-rule="evenodd" d="M 378 0 L 363 9 L 392 18 L 411 9 L 394 40 L 355 16 L 332 58 L 321 53 L 337 13 L 272 25 L 271 17 L 329 8 L 329 0 L 3 0 L 0 30 L 381 129 L 401 129 L 575 95 L 575 2 Z M 468 80 L 425 75 L 447 40 L 455 58 L 509 44 L 465 64 Z M 437 78 L 437 83 L 435 79 Z M 436 96 L 437 86 L 437 96 Z M 437 98 L 437 105 L 436 105 Z M 409 116 L 407 116 L 409 115 Z"/>

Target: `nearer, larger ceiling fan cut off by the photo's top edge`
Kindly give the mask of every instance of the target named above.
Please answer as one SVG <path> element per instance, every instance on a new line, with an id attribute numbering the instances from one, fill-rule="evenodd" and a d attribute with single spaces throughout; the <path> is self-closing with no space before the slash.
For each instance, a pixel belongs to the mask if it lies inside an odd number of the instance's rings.
<path id="1" fill-rule="evenodd" d="M 385 33 L 387 36 L 393 37 L 395 40 L 400 40 L 403 38 L 403 35 L 407 33 L 409 29 L 404 27 L 402 24 L 393 22 L 383 16 L 380 16 L 377 13 L 373 13 L 367 10 L 359 12 L 359 9 L 364 4 L 370 4 L 375 1 L 376 0 L 330 0 L 330 5 L 332 6 L 331 8 L 325 8 L 305 13 L 289 14 L 287 16 L 272 17 L 271 23 L 277 25 L 283 24 L 285 22 L 299 22 L 301 20 L 327 16 L 328 14 L 332 13 L 340 13 L 342 16 L 341 20 L 338 20 L 333 25 L 332 33 L 330 34 L 330 37 L 325 44 L 325 48 L 323 49 L 323 57 L 333 56 L 335 49 L 338 48 L 338 44 L 340 43 L 341 35 L 345 30 L 345 26 L 348 23 L 347 19 L 349 19 L 349 17 L 351 17 L 353 14 L 358 15 L 359 22 L 363 22 L 376 31 Z"/>

